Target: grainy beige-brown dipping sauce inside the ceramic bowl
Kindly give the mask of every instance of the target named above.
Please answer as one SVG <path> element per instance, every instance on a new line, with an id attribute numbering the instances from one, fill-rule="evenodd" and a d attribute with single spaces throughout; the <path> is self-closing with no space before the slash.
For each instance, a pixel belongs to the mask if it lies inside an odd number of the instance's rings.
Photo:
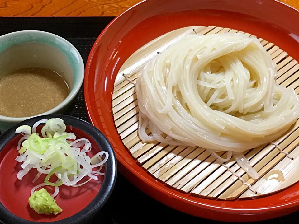
<path id="1" fill-rule="evenodd" d="M 59 105 L 69 86 L 59 74 L 46 68 L 22 68 L 0 76 L 0 115 L 29 117 Z"/>

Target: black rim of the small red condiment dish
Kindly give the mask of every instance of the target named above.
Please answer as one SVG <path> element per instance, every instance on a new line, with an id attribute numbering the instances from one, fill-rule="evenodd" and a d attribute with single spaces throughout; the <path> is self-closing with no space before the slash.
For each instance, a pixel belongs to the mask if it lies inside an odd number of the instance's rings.
<path id="1" fill-rule="evenodd" d="M 106 161 L 106 173 L 104 176 L 104 181 L 102 184 L 101 189 L 99 190 L 98 194 L 95 196 L 95 198 L 91 201 L 91 203 L 88 204 L 87 207 L 83 208 L 80 212 L 58 221 L 54 222 L 32 222 L 26 219 L 22 219 L 11 212 L 9 212 L 3 205 L 0 203 L 0 221 L 4 223 L 12 223 L 12 224 L 37 224 L 37 223 L 44 223 L 44 224 L 79 224 L 87 222 L 89 219 L 91 219 L 107 202 L 107 199 L 109 198 L 115 181 L 116 181 L 116 172 L 117 172 L 117 165 L 116 165 L 116 157 L 113 152 L 112 146 L 107 140 L 107 138 L 104 136 L 102 132 L 100 132 L 97 128 L 95 128 L 93 125 L 89 124 L 86 121 L 83 121 L 79 118 L 67 116 L 67 115 L 60 115 L 60 114 L 51 114 L 51 115 L 45 115 L 45 116 L 38 116 L 34 117 L 25 121 L 22 121 L 21 123 L 15 125 L 14 127 L 10 128 L 6 132 L 4 132 L 0 136 L 0 152 L 3 149 L 3 147 L 17 134 L 15 133 L 15 130 L 17 127 L 21 125 L 29 125 L 32 127 L 34 123 L 41 119 L 50 119 L 50 118 L 61 118 L 64 120 L 64 123 L 66 125 L 72 125 L 74 128 L 78 128 L 82 130 L 83 132 L 87 133 L 91 138 L 94 139 L 94 141 L 100 146 L 101 149 L 107 151 L 109 153 L 109 159 Z"/>

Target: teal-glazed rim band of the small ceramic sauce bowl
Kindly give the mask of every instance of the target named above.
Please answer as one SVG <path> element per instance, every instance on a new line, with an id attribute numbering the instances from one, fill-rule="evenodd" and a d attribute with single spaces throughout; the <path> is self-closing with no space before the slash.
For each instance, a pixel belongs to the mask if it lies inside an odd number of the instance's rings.
<path id="1" fill-rule="evenodd" d="M 8 33 L 0 36 L 0 53 L 14 45 L 30 42 L 46 44 L 58 48 L 67 57 L 74 71 L 73 88 L 71 89 L 69 95 L 59 105 L 55 106 L 51 110 L 30 117 L 16 118 L 0 115 L 0 122 L 19 123 L 32 117 L 54 114 L 58 110 L 65 107 L 71 100 L 73 100 L 82 86 L 84 79 L 83 59 L 73 44 L 58 35 L 39 30 L 22 30 Z M 2 124 L 0 124 L 0 126 L 2 126 Z"/>

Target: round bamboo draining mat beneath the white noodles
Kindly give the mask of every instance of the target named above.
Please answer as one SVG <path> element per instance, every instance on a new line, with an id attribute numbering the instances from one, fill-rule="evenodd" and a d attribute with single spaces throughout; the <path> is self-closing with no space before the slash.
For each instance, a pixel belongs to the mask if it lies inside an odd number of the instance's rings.
<path id="1" fill-rule="evenodd" d="M 169 187 L 199 197 L 225 200 L 238 197 L 251 198 L 270 194 L 296 183 L 299 180 L 297 171 L 299 169 L 299 121 L 290 127 L 284 136 L 275 141 L 284 152 L 289 153 L 293 160 L 272 144 L 244 152 L 251 166 L 258 171 L 258 180 L 249 178 L 233 159 L 221 164 L 200 147 L 177 147 L 157 141 L 141 142 L 137 133 L 139 108 L 134 87 L 136 72 L 157 55 L 157 52 L 166 49 L 169 46 L 168 41 L 172 43 L 183 35 L 194 32 L 199 34 L 244 33 L 215 26 L 186 27 L 151 41 L 127 59 L 115 80 L 112 112 L 115 126 L 128 153 L 153 178 Z M 245 35 L 255 37 L 249 33 Z M 261 38 L 259 41 L 277 64 L 277 83 L 295 89 L 298 94 L 299 64 L 297 61 L 287 56 L 286 52 L 273 43 Z M 145 58 L 142 64 L 136 63 L 142 57 Z M 127 81 L 122 74 L 125 74 L 131 82 Z M 150 133 L 149 130 L 147 132 Z M 225 157 L 226 152 L 221 152 L 219 155 Z"/>

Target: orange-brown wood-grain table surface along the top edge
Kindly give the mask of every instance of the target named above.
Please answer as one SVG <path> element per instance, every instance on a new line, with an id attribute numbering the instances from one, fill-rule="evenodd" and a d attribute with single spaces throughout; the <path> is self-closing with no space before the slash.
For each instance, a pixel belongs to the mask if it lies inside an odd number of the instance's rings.
<path id="1" fill-rule="evenodd" d="M 0 16 L 117 16 L 140 1 L 0 0 Z M 299 0 L 281 1 L 299 9 Z"/>

